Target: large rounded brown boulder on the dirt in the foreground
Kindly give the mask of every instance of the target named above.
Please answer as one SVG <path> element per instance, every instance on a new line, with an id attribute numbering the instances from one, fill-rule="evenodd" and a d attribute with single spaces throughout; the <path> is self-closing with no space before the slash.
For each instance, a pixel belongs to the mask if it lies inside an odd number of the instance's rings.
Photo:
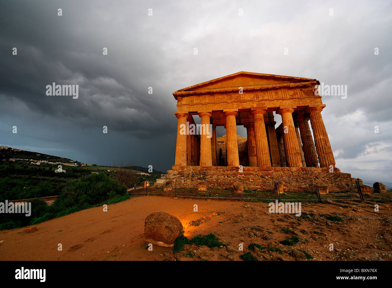
<path id="1" fill-rule="evenodd" d="M 173 247 L 184 232 L 181 221 L 166 212 L 154 212 L 144 220 L 144 237 L 152 244 Z"/>

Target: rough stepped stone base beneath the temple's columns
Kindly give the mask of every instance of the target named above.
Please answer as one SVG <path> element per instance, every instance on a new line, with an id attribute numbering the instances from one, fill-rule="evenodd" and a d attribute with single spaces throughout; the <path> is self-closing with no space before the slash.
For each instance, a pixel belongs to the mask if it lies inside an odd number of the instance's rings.
<path id="1" fill-rule="evenodd" d="M 244 189 L 272 191 L 278 182 L 279 187 L 283 184 L 283 191 L 293 187 L 327 187 L 327 191 L 335 192 L 356 185 L 351 174 L 342 173 L 338 168 L 334 168 L 334 172 L 316 167 L 242 167 L 242 170 L 221 166 L 173 166 L 156 180 L 154 187 L 197 188 L 201 181 L 207 181 L 209 188 L 233 189 L 234 183 L 240 182 Z"/>

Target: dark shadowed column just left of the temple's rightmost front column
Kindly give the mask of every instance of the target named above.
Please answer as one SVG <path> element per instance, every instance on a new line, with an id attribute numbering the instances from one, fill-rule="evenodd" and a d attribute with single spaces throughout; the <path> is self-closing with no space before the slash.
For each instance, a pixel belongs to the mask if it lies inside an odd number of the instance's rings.
<path id="1" fill-rule="evenodd" d="M 309 115 L 305 114 L 304 111 L 298 111 L 295 120 L 298 123 L 306 167 L 318 167 L 316 148 L 314 147 L 314 142 L 308 123 Z"/>

